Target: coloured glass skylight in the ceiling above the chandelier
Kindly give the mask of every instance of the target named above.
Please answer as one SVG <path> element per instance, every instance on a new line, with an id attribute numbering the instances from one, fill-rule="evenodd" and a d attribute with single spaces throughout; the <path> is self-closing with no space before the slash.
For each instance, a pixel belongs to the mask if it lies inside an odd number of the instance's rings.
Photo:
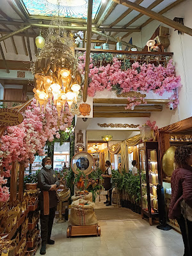
<path id="1" fill-rule="evenodd" d="M 102 0 L 93 0 L 95 19 Z M 58 16 L 58 0 L 22 0 L 29 15 Z M 88 0 L 60 0 L 60 16 L 67 18 L 87 18 Z"/>

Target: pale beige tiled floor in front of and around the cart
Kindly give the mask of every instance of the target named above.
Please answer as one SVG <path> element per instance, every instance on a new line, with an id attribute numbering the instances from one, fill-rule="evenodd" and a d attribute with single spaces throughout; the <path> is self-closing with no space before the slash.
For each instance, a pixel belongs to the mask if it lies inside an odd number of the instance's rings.
<path id="1" fill-rule="evenodd" d="M 106 207 L 97 202 L 97 207 Z M 121 209 L 119 209 L 121 211 Z M 182 256 L 182 237 L 174 230 L 150 227 L 147 220 L 100 221 L 100 237 L 67 238 L 68 222 L 54 223 L 47 256 Z M 36 252 L 39 255 L 39 250 Z"/>

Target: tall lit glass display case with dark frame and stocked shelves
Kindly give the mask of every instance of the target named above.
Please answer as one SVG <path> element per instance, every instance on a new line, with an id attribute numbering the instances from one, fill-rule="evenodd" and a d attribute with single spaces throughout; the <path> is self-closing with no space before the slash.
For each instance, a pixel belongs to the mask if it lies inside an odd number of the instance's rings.
<path id="1" fill-rule="evenodd" d="M 149 218 L 152 225 L 152 218 L 158 216 L 157 184 L 161 184 L 159 173 L 158 143 L 145 142 L 139 147 L 140 159 L 140 181 L 141 181 L 141 216 Z"/>

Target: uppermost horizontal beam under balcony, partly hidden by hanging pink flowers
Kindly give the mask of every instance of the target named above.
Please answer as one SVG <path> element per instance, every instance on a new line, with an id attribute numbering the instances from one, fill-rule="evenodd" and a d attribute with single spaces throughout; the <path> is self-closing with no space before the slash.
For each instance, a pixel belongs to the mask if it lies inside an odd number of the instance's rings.
<path id="1" fill-rule="evenodd" d="M 173 100 L 161 100 L 161 99 L 145 99 L 147 104 L 167 104 L 168 102 L 172 102 Z M 127 99 L 93 99 L 93 103 L 99 104 L 127 104 Z"/>

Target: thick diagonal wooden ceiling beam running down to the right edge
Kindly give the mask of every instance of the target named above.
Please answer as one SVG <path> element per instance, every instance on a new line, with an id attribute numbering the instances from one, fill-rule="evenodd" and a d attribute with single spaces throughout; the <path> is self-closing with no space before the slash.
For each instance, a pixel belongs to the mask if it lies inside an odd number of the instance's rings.
<path id="1" fill-rule="evenodd" d="M 123 4 L 126 7 L 132 8 L 136 10 L 137 12 L 140 12 L 144 15 L 147 15 L 148 17 L 158 20 L 159 22 L 162 22 L 163 24 L 166 24 L 170 26 L 171 28 L 177 29 L 183 33 L 186 33 L 187 35 L 192 36 L 192 29 L 188 28 L 187 26 L 184 26 L 174 20 L 168 19 L 167 17 L 164 17 L 163 15 L 156 13 L 152 10 L 148 10 L 147 8 L 144 8 L 143 6 L 140 6 L 139 4 L 132 3 L 128 0 L 113 0 L 115 3 Z"/>

